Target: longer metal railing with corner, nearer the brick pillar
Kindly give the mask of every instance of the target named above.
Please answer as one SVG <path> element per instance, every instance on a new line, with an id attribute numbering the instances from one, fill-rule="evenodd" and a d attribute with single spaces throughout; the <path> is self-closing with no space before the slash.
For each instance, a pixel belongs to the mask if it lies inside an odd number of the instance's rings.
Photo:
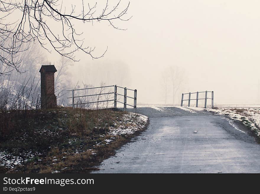
<path id="1" fill-rule="evenodd" d="M 82 95 L 82 96 L 75 96 L 74 95 L 74 92 L 76 90 L 97 89 L 97 88 L 105 88 L 105 87 L 114 87 L 114 92 L 98 93 L 98 94 L 90 94 L 90 95 Z M 124 95 L 117 93 L 117 88 L 118 87 L 124 89 Z M 127 90 L 134 91 L 134 97 L 127 96 Z M 119 102 L 119 103 L 124 104 L 124 111 L 126 111 L 126 105 L 128 105 L 128 106 L 133 107 L 134 111 L 136 112 L 136 100 L 137 100 L 137 90 L 136 89 L 129 89 L 129 88 L 126 88 L 126 87 L 120 87 L 120 86 L 117 86 L 117 85 L 113 85 L 113 86 L 101 86 L 101 87 L 92 87 L 92 88 L 82 88 L 82 89 L 67 90 L 67 92 L 69 92 L 69 91 L 71 91 L 71 97 L 67 97 L 67 98 L 72 98 L 72 104 L 68 104 L 68 106 L 72 105 L 72 108 L 75 108 L 75 105 L 114 101 L 114 108 L 116 108 L 116 104 L 117 104 L 117 102 Z M 98 95 L 100 96 L 100 95 L 106 95 L 106 94 L 114 94 L 114 99 L 113 100 L 107 99 L 107 100 L 101 100 L 101 101 L 96 101 L 96 102 L 75 103 L 75 98 L 78 98 L 78 97 L 88 97 L 88 96 L 98 96 Z M 118 101 L 117 100 L 117 95 L 124 96 L 124 102 Z M 127 98 L 134 99 L 134 105 L 127 104 L 127 101 L 126 101 Z"/>

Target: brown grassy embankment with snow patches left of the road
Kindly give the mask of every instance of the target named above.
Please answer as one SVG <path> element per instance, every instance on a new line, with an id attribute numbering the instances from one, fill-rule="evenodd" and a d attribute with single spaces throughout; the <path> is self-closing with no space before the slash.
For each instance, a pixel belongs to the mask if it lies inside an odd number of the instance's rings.
<path id="1" fill-rule="evenodd" d="M 0 172 L 89 172 L 146 124 L 142 115 L 115 110 L 0 113 Z"/>

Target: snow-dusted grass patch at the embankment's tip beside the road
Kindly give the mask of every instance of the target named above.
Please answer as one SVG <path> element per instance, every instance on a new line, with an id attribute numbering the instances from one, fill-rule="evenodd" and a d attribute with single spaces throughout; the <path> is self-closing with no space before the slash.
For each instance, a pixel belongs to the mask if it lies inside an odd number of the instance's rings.
<path id="1" fill-rule="evenodd" d="M 134 134 L 136 131 L 144 128 L 148 117 L 136 113 L 126 113 L 122 120 L 116 121 L 114 126 L 109 128 L 110 135 Z"/>

